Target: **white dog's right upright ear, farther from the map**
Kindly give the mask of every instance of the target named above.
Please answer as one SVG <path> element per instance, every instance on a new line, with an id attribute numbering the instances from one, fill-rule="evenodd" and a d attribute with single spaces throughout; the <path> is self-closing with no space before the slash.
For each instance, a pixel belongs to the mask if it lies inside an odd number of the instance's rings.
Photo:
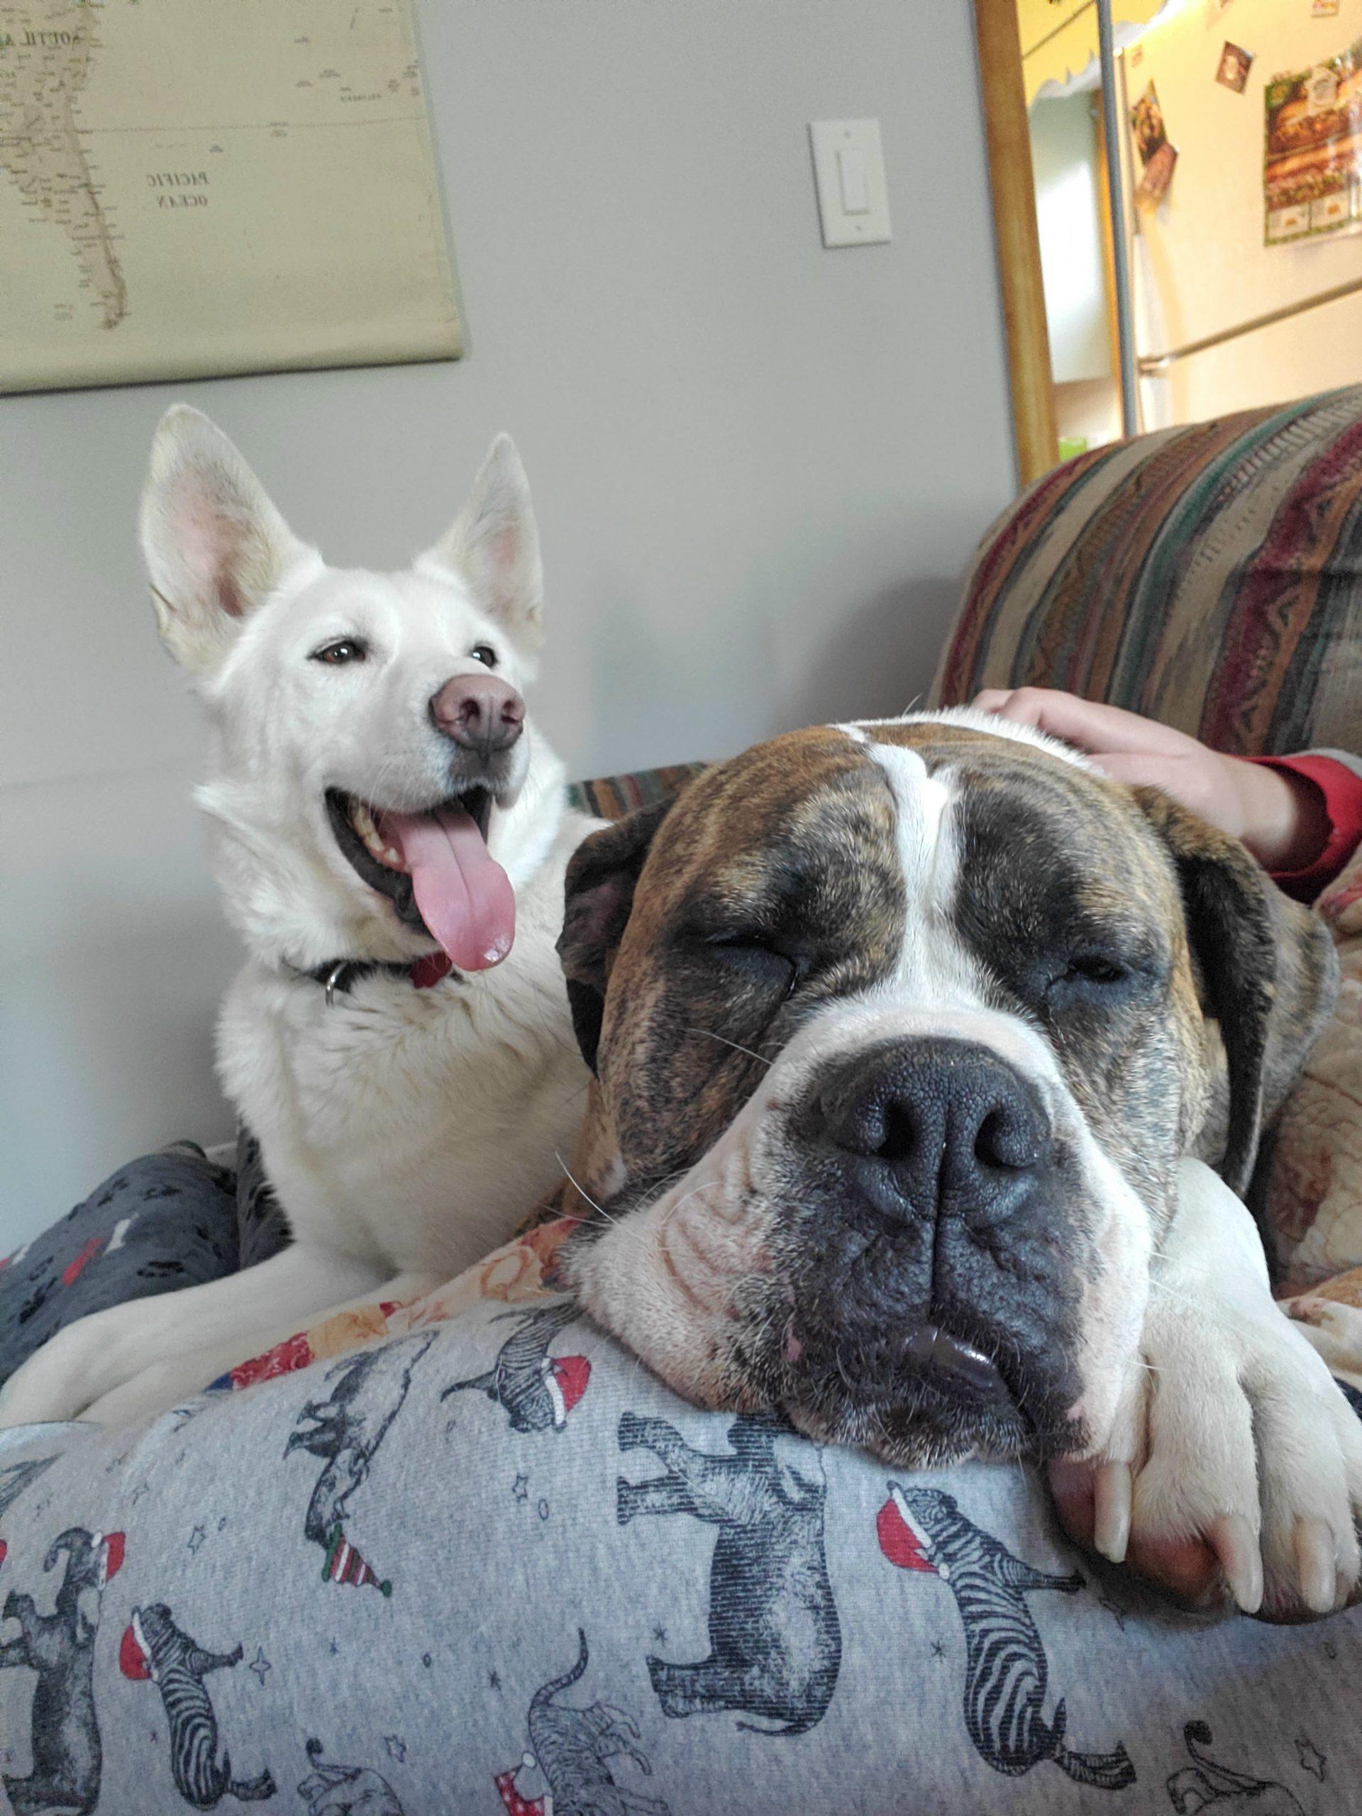
<path id="1" fill-rule="evenodd" d="M 543 565 L 530 483 L 516 443 L 498 436 L 472 492 L 419 567 L 449 568 L 525 656 L 543 643 Z"/>

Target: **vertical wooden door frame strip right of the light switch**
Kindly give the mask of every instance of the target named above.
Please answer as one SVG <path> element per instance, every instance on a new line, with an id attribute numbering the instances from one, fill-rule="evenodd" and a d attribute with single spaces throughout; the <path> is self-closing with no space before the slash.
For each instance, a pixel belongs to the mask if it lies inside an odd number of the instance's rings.
<path id="1" fill-rule="evenodd" d="M 1059 432 L 1017 0 L 973 0 L 973 18 L 1017 478 L 1030 485 L 1059 461 Z"/>

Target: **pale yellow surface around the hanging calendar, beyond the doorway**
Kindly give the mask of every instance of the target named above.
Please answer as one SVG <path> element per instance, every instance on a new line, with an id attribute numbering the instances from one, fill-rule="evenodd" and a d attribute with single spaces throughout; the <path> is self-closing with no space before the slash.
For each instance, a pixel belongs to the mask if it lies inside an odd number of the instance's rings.
<path id="1" fill-rule="evenodd" d="M 1044 0 L 1048 4 L 1048 0 Z M 1179 163 L 1164 205 L 1140 216 L 1140 350 L 1160 352 L 1362 278 L 1362 234 L 1264 247 L 1262 91 L 1362 36 L 1362 0 L 1311 18 L 1309 0 L 1213 0 L 1155 25 L 1126 53 L 1130 100 L 1159 89 Z M 1235 94 L 1215 80 L 1229 38 L 1255 58 Z M 1362 296 L 1297 316 L 1146 381 L 1146 423 L 1195 421 L 1362 380 Z"/>

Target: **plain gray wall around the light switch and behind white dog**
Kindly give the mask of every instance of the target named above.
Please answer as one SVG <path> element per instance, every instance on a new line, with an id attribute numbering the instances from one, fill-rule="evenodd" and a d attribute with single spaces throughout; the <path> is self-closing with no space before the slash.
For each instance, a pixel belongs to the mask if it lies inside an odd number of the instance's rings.
<path id="1" fill-rule="evenodd" d="M 421 29 L 465 361 L 0 403 L 0 1253 L 229 1130 L 234 950 L 133 545 L 173 398 L 367 565 L 510 429 L 548 572 L 534 705 L 579 774 L 901 708 L 1012 492 L 968 5 L 423 0 Z M 859 114 L 895 240 L 824 252 L 804 125 Z"/>

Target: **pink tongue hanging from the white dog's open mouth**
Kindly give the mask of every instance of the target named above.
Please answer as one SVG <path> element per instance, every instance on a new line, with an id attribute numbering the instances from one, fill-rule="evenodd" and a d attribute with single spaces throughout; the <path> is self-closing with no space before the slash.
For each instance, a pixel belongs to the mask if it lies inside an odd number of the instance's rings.
<path id="1" fill-rule="evenodd" d="M 487 850 L 470 814 L 383 814 L 380 837 L 396 844 L 412 877 L 416 906 L 461 972 L 501 964 L 516 939 L 516 892 Z"/>

